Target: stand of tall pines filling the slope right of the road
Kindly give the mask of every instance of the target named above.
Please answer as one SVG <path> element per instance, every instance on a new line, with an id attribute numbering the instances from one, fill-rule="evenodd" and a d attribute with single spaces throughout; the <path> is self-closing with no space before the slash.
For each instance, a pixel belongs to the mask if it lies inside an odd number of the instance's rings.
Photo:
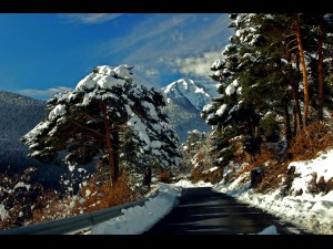
<path id="1" fill-rule="evenodd" d="M 333 14 L 229 17 L 234 34 L 211 66 L 221 97 L 201 112 L 213 126 L 214 151 L 232 154 L 230 138 L 236 136 L 252 155 L 262 141 L 287 146 L 304 127 L 330 118 Z"/>

